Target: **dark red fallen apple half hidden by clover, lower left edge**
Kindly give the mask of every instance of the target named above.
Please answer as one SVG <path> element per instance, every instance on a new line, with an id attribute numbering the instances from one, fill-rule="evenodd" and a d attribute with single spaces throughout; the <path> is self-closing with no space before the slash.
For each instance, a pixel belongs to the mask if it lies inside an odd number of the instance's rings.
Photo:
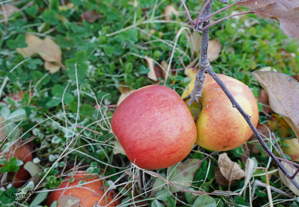
<path id="1" fill-rule="evenodd" d="M 6 159 L 8 161 L 11 157 L 16 157 L 18 158 L 18 160 L 22 160 L 25 164 L 26 162 L 32 161 L 31 151 L 32 149 L 30 148 L 29 144 L 20 146 L 16 145 L 11 147 L 9 151 L 6 153 Z M 20 166 L 20 169 L 18 171 L 9 172 L 7 174 L 8 181 L 13 182 L 13 186 L 15 188 L 20 188 L 31 177 L 30 173 L 27 170 L 25 170 L 23 166 L 24 165 Z M 1 167 L 2 166 L 0 165 L 0 168 Z"/>

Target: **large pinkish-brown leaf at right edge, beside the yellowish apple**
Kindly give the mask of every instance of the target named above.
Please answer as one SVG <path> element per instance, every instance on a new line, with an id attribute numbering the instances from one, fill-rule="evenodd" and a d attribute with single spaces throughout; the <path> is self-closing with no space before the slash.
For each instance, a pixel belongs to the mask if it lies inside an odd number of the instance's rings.
<path id="1" fill-rule="evenodd" d="M 299 140 L 299 82 L 284 73 L 253 74 L 268 92 L 271 109 L 283 116 Z"/>

